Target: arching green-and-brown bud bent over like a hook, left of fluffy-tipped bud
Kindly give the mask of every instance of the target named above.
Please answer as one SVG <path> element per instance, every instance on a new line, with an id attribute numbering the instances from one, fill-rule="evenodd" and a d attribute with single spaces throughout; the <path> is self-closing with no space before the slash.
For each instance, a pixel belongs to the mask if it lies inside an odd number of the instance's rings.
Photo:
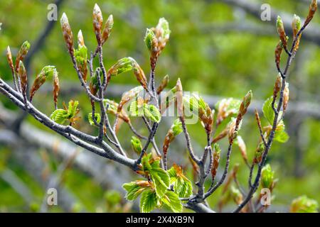
<path id="1" fill-rule="evenodd" d="M 116 76 L 122 72 L 128 72 L 133 70 L 134 76 L 138 80 L 138 82 L 144 87 L 144 89 L 148 92 L 148 85 L 146 82 L 146 76 L 144 75 L 144 71 L 139 66 L 139 64 L 132 57 L 123 57 L 118 60 L 117 63 L 112 65 L 107 72 L 107 83 L 110 82 L 112 76 Z"/>

